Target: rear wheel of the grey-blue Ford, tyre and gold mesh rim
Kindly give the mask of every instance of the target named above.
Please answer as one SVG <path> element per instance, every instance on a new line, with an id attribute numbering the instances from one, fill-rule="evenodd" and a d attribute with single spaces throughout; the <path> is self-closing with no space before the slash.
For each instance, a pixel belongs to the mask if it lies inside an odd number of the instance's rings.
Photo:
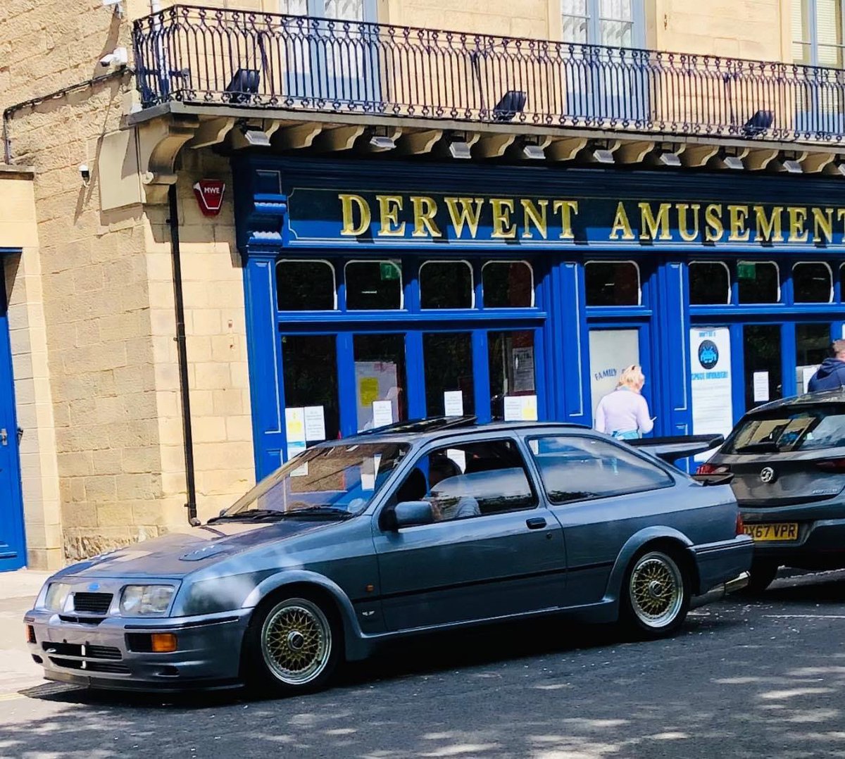
<path id="1" fill-rule="evenodd" d="M 690 610 L 690 582 L 679 562 L 661 550 L 639 554 L 625 575 L 624 624 L 636 636 L 656 639 L 672 635 Z"/>

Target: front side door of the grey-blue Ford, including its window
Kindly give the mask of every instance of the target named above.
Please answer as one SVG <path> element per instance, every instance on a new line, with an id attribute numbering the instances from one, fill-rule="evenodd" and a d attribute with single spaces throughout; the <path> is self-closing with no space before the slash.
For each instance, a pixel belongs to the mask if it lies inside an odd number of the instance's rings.
<path id="1" fill-rule="evenodd" d="M 391 631 L 552 609 L 564 598 L 563 533 L 517 440 L 465 441 L 423 450 L 374 518 Z M 385 516 L 401 500 L 428 500 L 436 521 L 390 529 Z"/>

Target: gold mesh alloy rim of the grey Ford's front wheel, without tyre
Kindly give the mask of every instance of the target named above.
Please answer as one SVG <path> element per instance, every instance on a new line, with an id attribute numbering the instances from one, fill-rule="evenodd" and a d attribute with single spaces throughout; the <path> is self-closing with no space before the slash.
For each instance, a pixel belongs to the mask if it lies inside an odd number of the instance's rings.
<path id="1" fill-rule="evenodd" d="M 287 598 L 261 625 L 264 663 L 285 685 L 307 685 L 323 672 L 331 654 L 331 625 L 306 598 Z"/>

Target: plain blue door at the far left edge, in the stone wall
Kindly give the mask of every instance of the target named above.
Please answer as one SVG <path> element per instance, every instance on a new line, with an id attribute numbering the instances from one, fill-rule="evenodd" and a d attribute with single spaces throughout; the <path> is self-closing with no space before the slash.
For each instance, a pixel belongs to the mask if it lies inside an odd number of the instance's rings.
<path id="1" fill-rule="evenodd" d="M 14 418 L 12 352 L 6 311 L 3 259 L 0 258 L 0 571 L 19 569 L 26 564 L 18 427 Z"/>

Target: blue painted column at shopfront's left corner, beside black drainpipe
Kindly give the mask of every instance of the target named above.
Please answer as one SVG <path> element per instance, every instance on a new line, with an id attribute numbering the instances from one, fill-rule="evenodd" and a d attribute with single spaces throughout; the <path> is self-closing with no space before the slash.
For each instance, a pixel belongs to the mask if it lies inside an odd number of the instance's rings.
<path id="1" fill-rule="evenodd" d="M 276 319 L 275 259 L 274 250 L 249 248 L 243 268 L 257 480 L 281 465 L 285 450 L 285 389 Z"/>

